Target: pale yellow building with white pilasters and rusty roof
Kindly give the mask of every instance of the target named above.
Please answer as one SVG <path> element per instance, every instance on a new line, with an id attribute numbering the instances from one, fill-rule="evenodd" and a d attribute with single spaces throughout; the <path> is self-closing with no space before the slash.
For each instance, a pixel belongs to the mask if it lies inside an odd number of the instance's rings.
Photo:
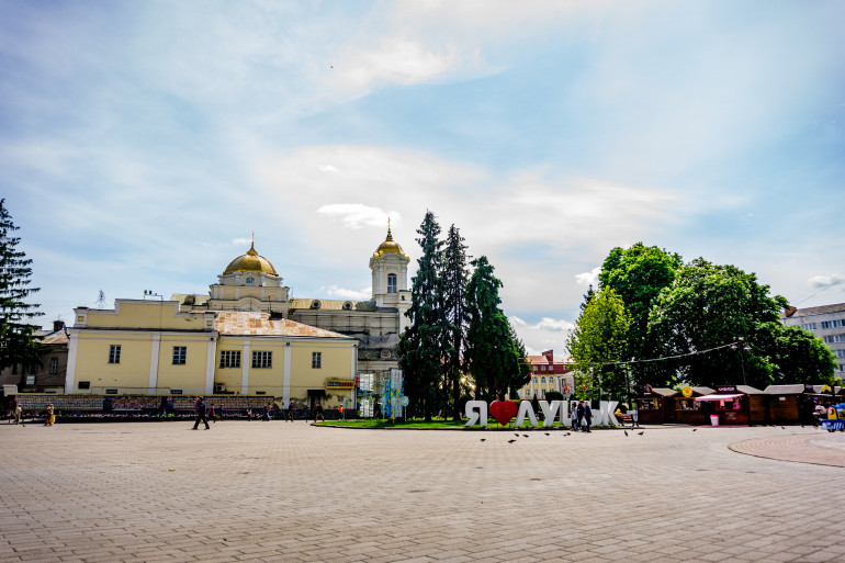
<path id="1" fill-rule="evenodd" d="M 75 309 L 66 393 L 352 398 L 358 340 L 269 313 L 182 312 L 174 301 Z M 330 393 L 326 393 L 329 390 Z"/>

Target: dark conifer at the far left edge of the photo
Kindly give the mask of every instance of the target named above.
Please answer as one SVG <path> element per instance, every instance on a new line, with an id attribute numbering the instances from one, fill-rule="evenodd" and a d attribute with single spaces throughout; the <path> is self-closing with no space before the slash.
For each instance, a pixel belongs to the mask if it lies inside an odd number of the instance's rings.
<path id="1" fill-rule="evenodd" d="M 31 288 L 31 259 L 18 249 L 19 237 L 12 236 L 18 230 L 12 216 L 5 209 L 5 200 L 0 200 L 0 369 L 22 364 L 21 380 L 31 365 L 40 363 L 38 356 L 43 347 L 33 340 L 37 329 L 29 323 L 43 315 L 38 305 L 24 300 L 38 291 Z"/>

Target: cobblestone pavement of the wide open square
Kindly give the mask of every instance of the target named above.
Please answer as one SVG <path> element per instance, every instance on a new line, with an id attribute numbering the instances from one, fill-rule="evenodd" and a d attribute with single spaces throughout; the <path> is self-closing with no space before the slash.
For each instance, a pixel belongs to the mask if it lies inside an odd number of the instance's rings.
<path id="1" fill-rule="evenodd" d="M 0 561 L 845 561 L 811 428 L 190 428 L 0 425 Z"/>

